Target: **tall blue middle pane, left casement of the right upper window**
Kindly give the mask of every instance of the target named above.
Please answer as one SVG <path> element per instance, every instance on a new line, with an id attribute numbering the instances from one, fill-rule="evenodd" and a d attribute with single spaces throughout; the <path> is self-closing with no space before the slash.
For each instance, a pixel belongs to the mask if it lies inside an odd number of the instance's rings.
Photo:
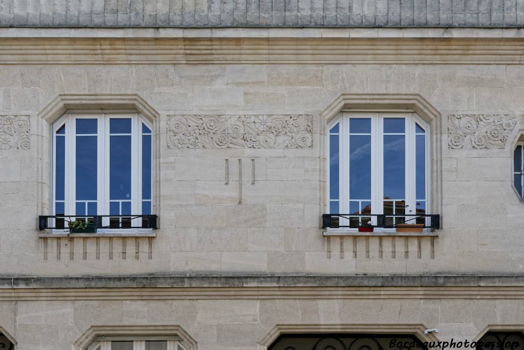
<path id="1" fill-rule="evenodd" d="M 350 136 L 350 199 L 371 199 L 371 136 Z"/>

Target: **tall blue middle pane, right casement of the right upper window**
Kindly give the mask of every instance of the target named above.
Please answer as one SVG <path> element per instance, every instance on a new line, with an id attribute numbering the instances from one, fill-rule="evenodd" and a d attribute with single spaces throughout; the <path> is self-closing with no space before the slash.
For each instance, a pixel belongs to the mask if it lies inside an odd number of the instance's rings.
<path id="1" fill-rule="evenodd" d="M 384 198 L 405 199 L 405 179 L 405 136 L 384 135 Z"/>

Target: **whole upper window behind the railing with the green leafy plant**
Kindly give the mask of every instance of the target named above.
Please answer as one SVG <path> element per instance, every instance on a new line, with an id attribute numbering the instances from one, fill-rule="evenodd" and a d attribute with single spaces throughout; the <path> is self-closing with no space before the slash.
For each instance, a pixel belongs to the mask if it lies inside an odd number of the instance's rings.
<path id="1" fill-rule="evenodd" d="M 68 113 L 53 123 L 52 212 L 78 215 L 56 218 L 56 229 L 95 215 L 108 215 L 98 232 L 148 227 L 136 215 L 151 214 L 151 130 L 135 113 Z"/>

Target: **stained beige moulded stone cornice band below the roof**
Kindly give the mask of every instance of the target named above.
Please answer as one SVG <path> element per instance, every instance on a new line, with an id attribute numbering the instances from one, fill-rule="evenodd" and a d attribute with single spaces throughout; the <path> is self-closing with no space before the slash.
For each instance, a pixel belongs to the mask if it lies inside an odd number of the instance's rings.
<path id="1" fill-rule="evenodd" d="M 2 64 L 521 64 L 522 38 L 0 38 Z"/>

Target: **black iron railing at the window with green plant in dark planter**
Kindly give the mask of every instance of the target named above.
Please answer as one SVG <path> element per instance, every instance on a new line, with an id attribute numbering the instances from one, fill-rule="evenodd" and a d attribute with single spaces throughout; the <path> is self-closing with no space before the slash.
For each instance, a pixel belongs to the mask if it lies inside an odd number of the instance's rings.
<path id="1" fill-rule="evenodd" d="M 108 220 L 104 220 L 104 217 Z M 157 215 L 40 215 L 38 228 L 69 229 L 68 223 L 73 221 L 86 221 L 88 229 L 157 228 Z M 140 226 L 136 226 L 136 223 L 140 223 Z"/>

